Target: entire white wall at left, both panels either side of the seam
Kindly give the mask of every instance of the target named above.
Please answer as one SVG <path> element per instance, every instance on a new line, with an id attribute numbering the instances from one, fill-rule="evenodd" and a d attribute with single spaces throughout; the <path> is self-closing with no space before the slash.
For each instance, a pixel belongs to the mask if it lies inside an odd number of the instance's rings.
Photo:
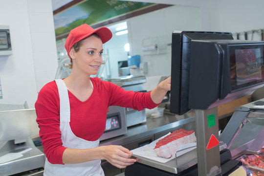
<path id="1" fill-rule="evenodd" d="M 0 104 L 26 101 L 34 108 L 39 89 L 54 79 L 57 68 L 51 0 L 0 0 L 0 4 L 0 25 L 9 25 L 12 44 L 12 55 L 0 56 Z M 40 55 L 48 56 L 46 61 L 50 62 L 45 71 L 41 69 L 43 61 L 38 62 L 44 57 L 35 58 Z M 38 71 L 46 78 L 38 78 Z"/>

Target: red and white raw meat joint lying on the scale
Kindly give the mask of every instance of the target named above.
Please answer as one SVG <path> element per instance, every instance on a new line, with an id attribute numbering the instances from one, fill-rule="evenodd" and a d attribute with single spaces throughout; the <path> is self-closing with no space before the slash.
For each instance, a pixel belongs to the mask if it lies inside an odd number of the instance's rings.
<path id="1" fill-rule="evenodd" d="M 191 142 L 196 142 L 195 132 L 179 129 L 160 139 L 154 151 L 159 157 L 170 158 L 176 153 L 179 145 Z"/>

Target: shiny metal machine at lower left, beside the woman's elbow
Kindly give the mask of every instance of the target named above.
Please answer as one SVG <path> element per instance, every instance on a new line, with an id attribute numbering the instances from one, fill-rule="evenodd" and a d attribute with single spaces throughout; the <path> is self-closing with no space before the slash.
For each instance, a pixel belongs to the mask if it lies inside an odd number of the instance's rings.
<path id="1" fill-rule="evenodd" d="M 0 175 L 44 167 L 45 156 L 31 137 L 39 136 L 35 109 L 0 111 Z"/>

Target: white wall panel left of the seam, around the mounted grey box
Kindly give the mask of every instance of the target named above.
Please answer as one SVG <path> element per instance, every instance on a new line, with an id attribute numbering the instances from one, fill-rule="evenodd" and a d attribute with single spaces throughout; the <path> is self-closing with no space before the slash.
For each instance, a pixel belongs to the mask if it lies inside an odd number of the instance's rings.
<path id="1" fill-rule="evenodd" d="M 0 56 L 1 104 L 33 105 L 37 97 L 27 0 L 0 0 L 0 24 L 9 25 L 12 55 Z M 3 18 L 5 17 L 5 18 Z"/>

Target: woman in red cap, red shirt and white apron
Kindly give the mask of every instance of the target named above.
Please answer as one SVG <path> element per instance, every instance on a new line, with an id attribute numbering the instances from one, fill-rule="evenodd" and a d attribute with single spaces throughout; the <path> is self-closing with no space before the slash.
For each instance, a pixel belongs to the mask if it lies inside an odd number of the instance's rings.
<path id="1" fill-rule="evenodd" d="M 65 47 L 72 71 L 65 79 L 46 84 L 35 104 L 46 155 L 44 176 L 104 176 L 105 159 L 118 168 L 136 160 L 122 146 L 100 146 L 109 106 L 143 110 L 156 107 L 170 90 L 170 78 L 148 93 L 126 91 L 99 78 L 103 44 L 112 37 L 106 27 L 87 24 L 72 29 Z M 136 118 L 136 117 L 135 117 Z"/>

